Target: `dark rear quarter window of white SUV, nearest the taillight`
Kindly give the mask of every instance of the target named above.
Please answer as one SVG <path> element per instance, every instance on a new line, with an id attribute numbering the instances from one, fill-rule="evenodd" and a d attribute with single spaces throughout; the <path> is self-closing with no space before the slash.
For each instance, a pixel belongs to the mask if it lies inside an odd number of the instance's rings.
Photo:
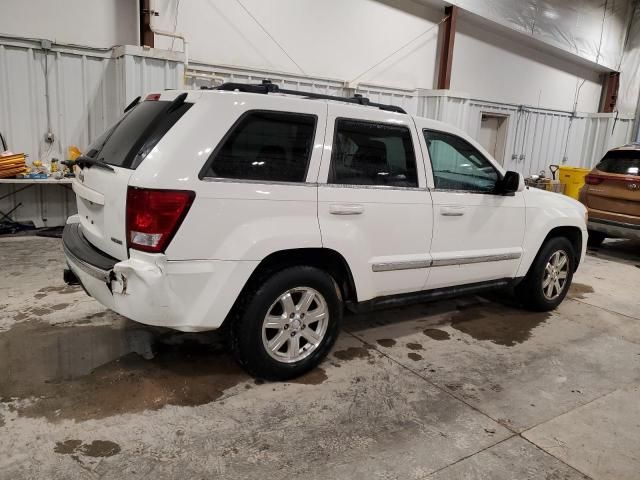
<path id="1" fill-rule="evenodd" d="M 315 124 L 314 115 L 248 113 L 214 151 L 203 176 L 304 182 Z"/>

